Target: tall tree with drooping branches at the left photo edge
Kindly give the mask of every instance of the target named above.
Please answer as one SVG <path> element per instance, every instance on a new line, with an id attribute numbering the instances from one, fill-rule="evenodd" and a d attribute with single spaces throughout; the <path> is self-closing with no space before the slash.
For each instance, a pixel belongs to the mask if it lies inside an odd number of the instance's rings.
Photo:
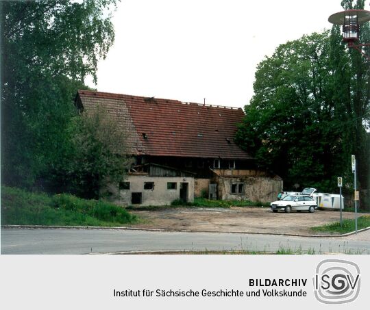
<path id="1" fill-rule="evenodd" d="M 31 186 L 58 162 L 76 90 L 114 42 L 115 4 L 0 1 L 4 183 Z"/>

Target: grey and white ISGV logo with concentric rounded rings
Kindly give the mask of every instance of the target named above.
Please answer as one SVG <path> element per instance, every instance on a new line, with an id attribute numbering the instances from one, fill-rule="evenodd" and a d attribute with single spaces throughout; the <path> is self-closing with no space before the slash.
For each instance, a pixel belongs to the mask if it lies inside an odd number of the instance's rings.
<path id="1" fill-rule="evenodd" d="M 324 304 L 354 301 L 360 293 L 360 268 L 343 259 L 325 259 L 313 278 L 314 296 Z"/>

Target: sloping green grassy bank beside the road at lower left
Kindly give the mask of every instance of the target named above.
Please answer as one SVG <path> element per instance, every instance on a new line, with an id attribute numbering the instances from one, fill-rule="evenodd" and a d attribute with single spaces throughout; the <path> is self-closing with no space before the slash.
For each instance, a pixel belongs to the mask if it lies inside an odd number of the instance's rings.
<path id="1" fill-rule="evenodd" d="M 114 227 L 136 222 L 136 216 L 105 201 L 69 194 L 48 196 L 1 187 L 1 224 Z"/>

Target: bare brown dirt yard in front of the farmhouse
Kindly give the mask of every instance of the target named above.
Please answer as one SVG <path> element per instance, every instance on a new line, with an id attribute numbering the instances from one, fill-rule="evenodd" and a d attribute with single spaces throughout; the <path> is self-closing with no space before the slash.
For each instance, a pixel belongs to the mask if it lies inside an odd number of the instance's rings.
<path id="1" fill-rule="evenodd" d="M 146 229 L 171 229 L 188 231 L 223 231 L 245 233 L 289 233 L 314 235 L 310 227 L 339 221 L 338 211 L 317 210 L 308 212 L 279 211 L 269 207 L 174 208 L 159 211 L 132 211 L 147 219 L 134 227 Z M 343 212 L 343 218 L 354 218 L 354 213 Z"/>

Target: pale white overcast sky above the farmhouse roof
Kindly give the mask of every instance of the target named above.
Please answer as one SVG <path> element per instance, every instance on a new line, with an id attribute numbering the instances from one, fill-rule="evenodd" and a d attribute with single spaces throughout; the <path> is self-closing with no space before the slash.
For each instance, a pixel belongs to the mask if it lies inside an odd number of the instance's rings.
<path id="1" fill-rule="evenodd" d="M 122 0 L 97 88 L 243 107 L 256 66 L 275 48 L 330 29 L 341 0 Z M 368 3 L 365 9 L 369 10 Z"/>

